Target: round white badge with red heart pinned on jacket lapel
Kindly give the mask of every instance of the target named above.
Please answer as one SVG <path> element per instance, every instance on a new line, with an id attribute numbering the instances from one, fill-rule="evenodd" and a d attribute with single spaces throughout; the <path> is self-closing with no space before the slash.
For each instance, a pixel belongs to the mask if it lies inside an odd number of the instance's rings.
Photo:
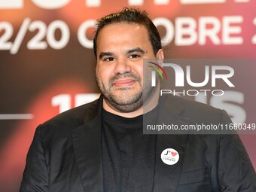
<path id="1" fill-rule="evenodd" d="M 172 166 L 178 162 L 179 154 L 178 151 L 176 151 L 173 148 L 166 148 L 163 150 L 161 154 L 161 159 L 163 160 L 163 163 L 166 163 L 169 166 Z"/>

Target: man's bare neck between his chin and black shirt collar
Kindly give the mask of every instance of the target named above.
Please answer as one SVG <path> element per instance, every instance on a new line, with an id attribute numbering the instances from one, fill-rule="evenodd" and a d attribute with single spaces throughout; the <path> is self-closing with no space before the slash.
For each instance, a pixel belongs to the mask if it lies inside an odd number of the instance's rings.
<path id="1" fill-rule="evenodd" d="M 150 98 L 148 98 L 148 100 L 144 102 L 142 107 L 138 108 L 136 111 L 132 111 L 129 113 L 122 113 L 119 111 L 115 111 L 113 108 L 111 108 L 108 105 L 107 102 L 105 102 L 105 99 L 103 99 L 103 108 L 105 109 L 105 111 L 108 111 L 112 114 L 117 114 L 121 117 L 126 117 L 126 118 L 137 117 L 141 114 L 145 114 L 148 111 L 151 111 L 152 109 L 154 109 L 157 106 L 158 99 L 159 99 L 159 93 L 160 93 L 160 86 L 158 84 L 158 86 L 157 86 L 156 90 L 154 91 L 154 93 L 152 94 L 152 96 L 150 96 Z"/>

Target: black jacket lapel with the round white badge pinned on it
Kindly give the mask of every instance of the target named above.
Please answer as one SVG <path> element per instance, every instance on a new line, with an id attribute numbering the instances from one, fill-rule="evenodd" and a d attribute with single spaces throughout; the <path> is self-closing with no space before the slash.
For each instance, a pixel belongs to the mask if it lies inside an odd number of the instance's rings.
<path id="1" fill-rule="evenodd" d="M 184 117 L 181 116 L 184 108 L 175 102 L 175 99 L 166 99 L 166 101 L 160 101 L 160 108 L 157 115 L 158 123 L 163 122 L 173 123 L 180 126 L 187 122 Z M 175 191 L 178 185 L 179 178 L 181 176 L 182 165 L 184 160 L 184 152 L 187 145 L 187 134 L 174 135 L 165 134 L 157 135 L 156 146 L 156 162 L 155 162 L 155 175 L 154 175 L 154 191 Z M 163 163 L 161 159 L 161 153 L 166 148 L 172 148 L 178 151 L 179 160 L 174 165 L 167 165 Z"/>

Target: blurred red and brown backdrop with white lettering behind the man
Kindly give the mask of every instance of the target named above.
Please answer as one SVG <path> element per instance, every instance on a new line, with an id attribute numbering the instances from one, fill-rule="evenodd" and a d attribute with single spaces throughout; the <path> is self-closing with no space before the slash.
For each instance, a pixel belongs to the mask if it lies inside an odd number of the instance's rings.
<path id="1" fill-rule="evenodd" d="M 18 191 L 38 124 L 99 96 L 95 20 L 130 6 L 148 11 L 166 58 L 237 59 L 223 99 L 194 99 L 256 123 L 254 0 L 0 0 L 1 191 Z M 240 137 L 255 169 L 256 136 Z"/>

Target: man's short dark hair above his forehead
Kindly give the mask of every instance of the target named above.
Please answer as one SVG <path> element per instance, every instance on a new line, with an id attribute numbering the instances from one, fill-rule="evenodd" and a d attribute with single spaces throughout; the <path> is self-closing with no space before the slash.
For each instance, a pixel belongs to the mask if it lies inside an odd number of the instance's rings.
<path id="1" fill-rule="evenodd" d="M 108 14 L 105 17 L 96 21 L 96 33 L 93 38 L 93 51 L 97 59 L 97 38 L 99 32 L 105 27 L 113 23 L 136 23 L 146 27 L 148 30 L 149 40 L 154 50 L 154 54 L 157 54 L 157 51 L 162 48 L 161 38 L 157 27 L 148 17 L 146 11 L 141 11 L 138 8 L 123 8 L 122 11 Z"/>

